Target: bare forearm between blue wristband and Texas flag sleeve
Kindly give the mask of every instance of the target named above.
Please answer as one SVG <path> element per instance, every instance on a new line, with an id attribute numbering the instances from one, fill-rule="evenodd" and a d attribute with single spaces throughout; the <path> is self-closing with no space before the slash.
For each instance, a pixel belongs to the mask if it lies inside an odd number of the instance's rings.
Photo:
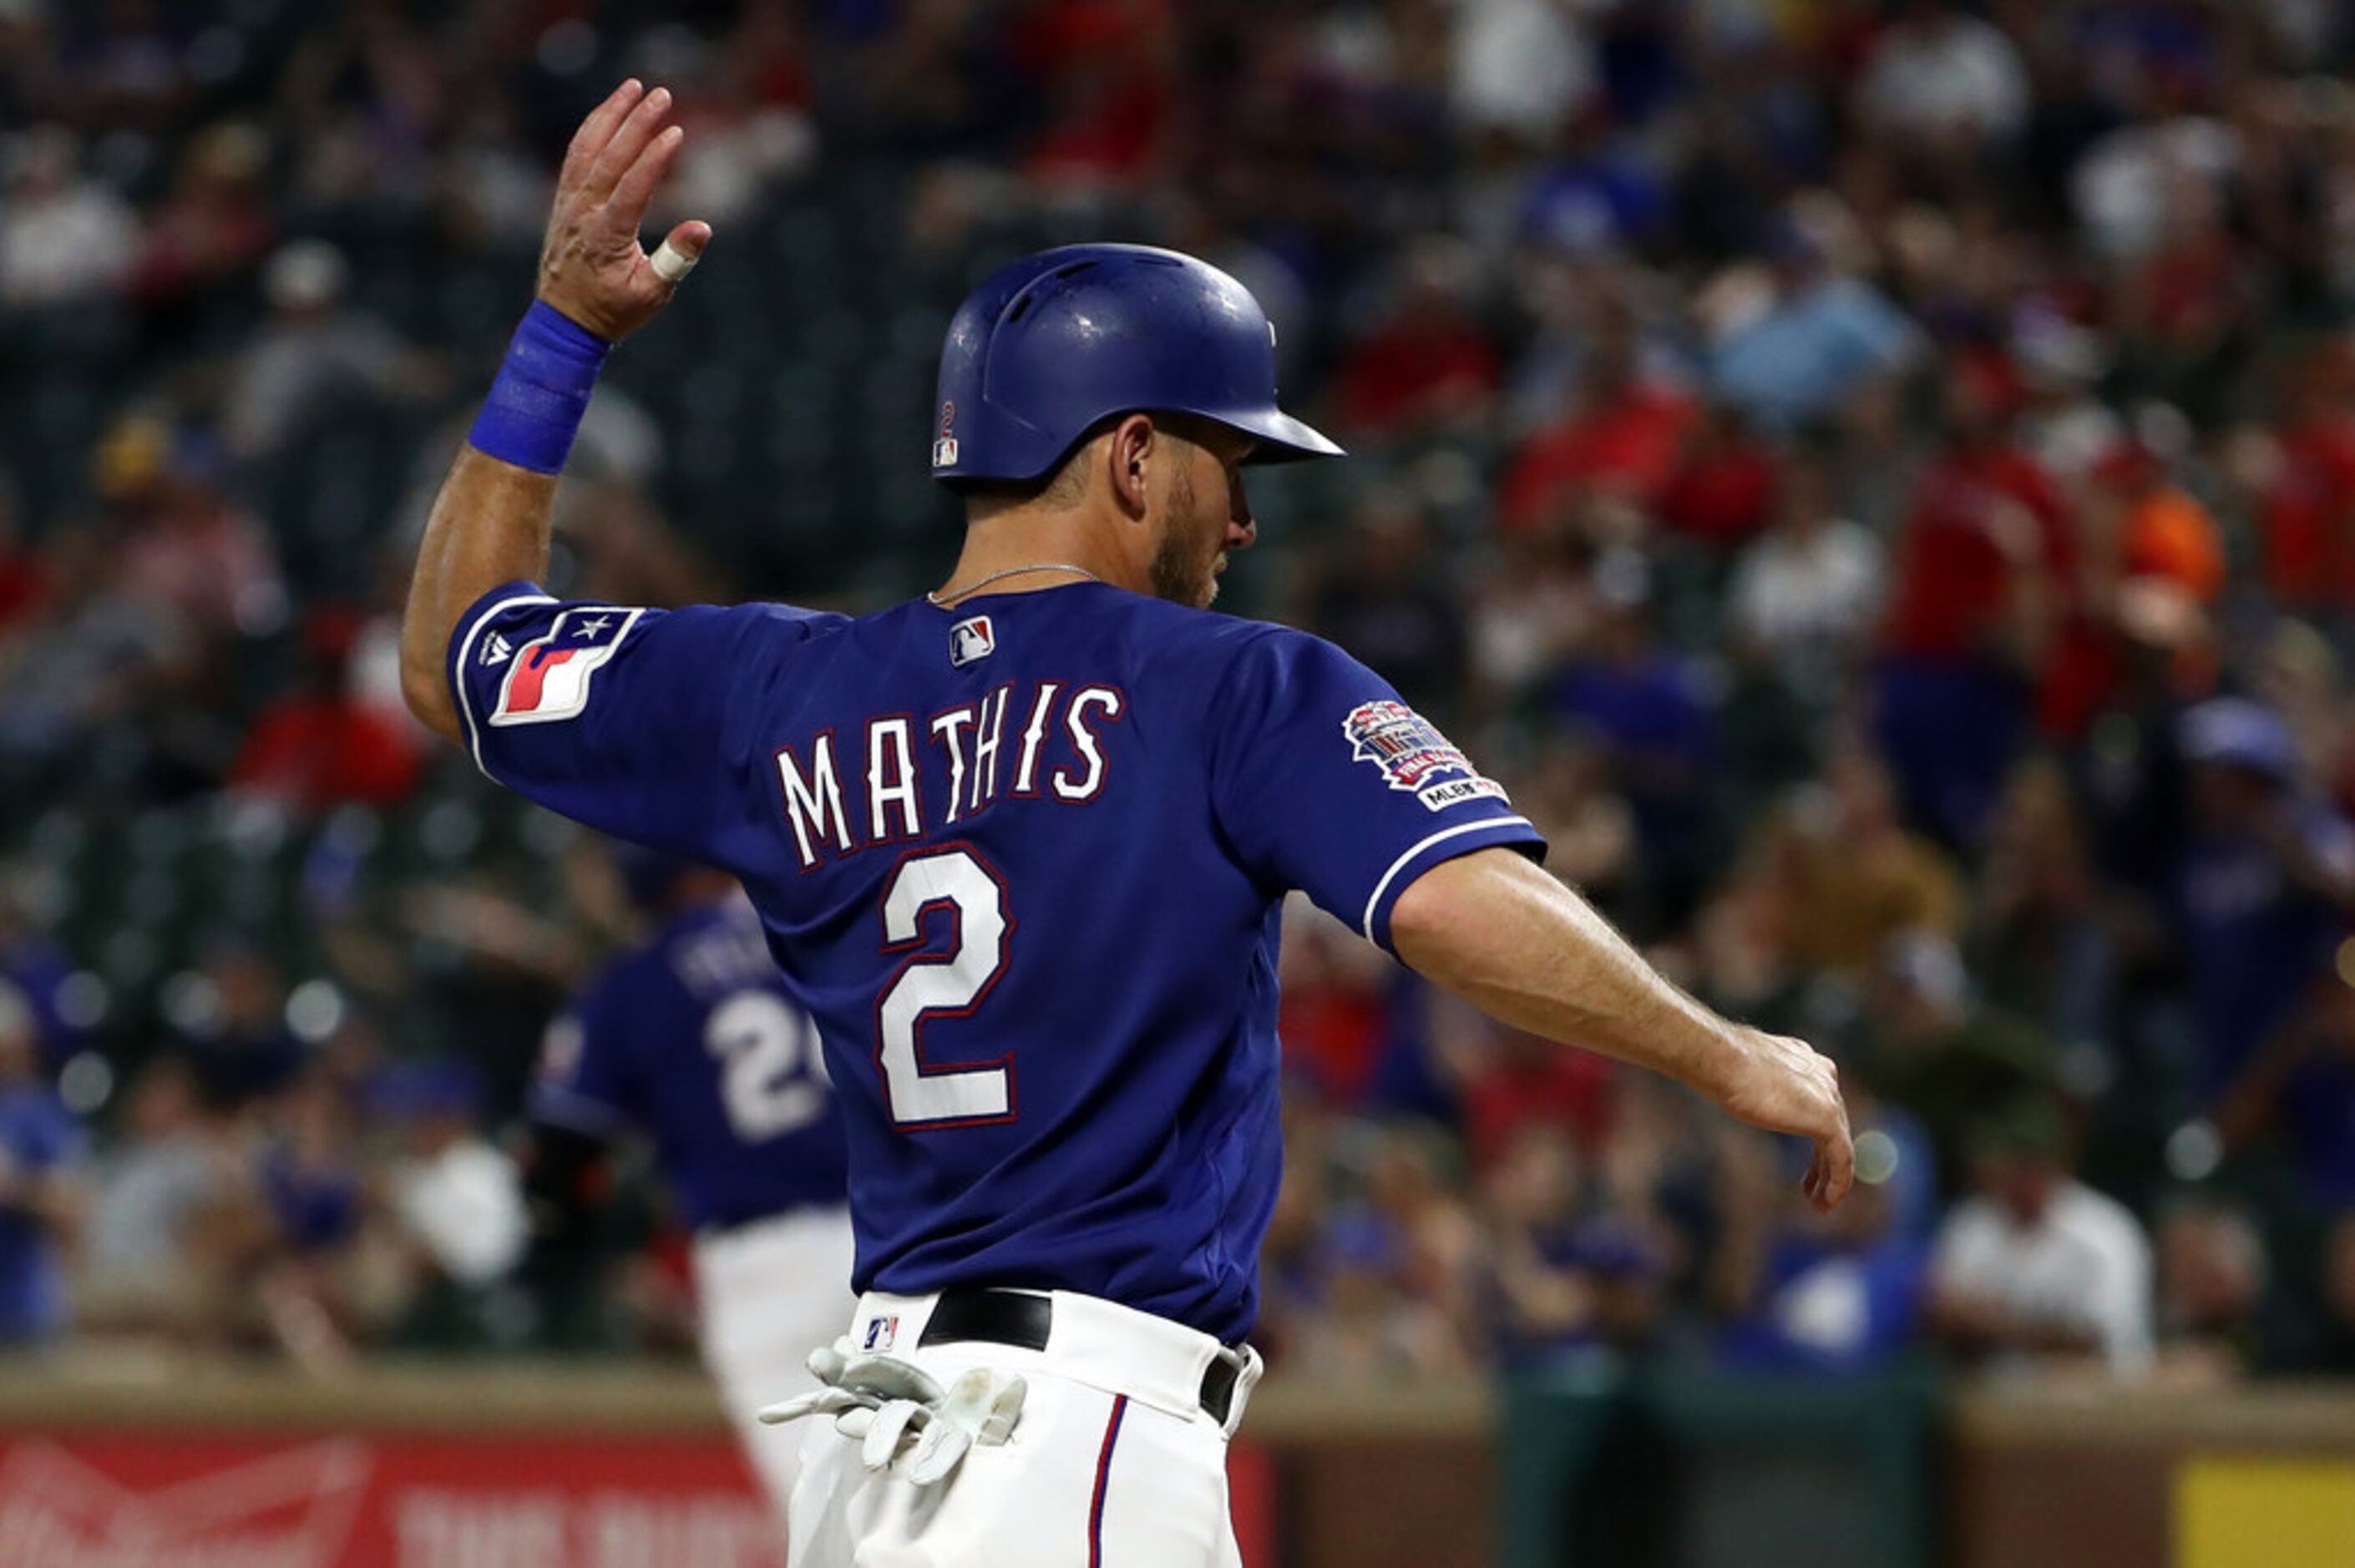
<path id="1" fill-rule="evenodd" d="M 450 739 L 459 732 L 445 659 L 466 605 L 502 582 L 539 579 L 549 567 L 549 513 L 556 476 L 459 450 L 426 518 L 400 622 L 400 692 L 419 723 Z"/>

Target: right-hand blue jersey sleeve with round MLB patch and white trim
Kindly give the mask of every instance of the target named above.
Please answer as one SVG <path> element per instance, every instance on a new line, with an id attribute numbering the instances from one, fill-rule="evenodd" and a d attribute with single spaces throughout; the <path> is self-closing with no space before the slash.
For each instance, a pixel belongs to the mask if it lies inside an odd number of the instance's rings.
<path id="1" fill-rule="evenodd" d="M 1321 638 L 1251 640 L 1210 735 L 1210 800 L 1243 866 L 1385 949 L 1399 895 L 1439 862 L 1493 845 L 1545 855 L 1500 784 Z"/>

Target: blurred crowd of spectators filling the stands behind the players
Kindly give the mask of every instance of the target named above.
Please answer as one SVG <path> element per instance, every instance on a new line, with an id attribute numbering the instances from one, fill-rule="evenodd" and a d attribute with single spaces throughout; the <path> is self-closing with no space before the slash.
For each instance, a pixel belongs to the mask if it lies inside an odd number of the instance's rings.
<path id="1" fill-rule="evenodd" d="M 1015 235 L 1182 245 L 1354 454 L 1260 483 L 1239 607 L 1844 1067 L 1818 1217 L 1295 909 L 1281 1368 L 2355 1373 L 2350 68 L 2331 0 L 0 5 L 0 1337 L 688 1342 L 659 1194 L 556 1248 L 504 1147 L 626 902 L 391 657 L 553 158 L 641 73 L 721 238 L 617 356 L 563 591 L 930 586 L 944 311 Z M 890 301 L 787 285 L 820 191 L 885 193 Z M 723 377 L 695 308 L 791 348 Z M 822 365 L 885 367 L 848 445 Z M 716 504 L 749 384 L 754 457 L 871 438 L 874 490 Z M 812 490 L 822 549 L 725 544 Z"/>

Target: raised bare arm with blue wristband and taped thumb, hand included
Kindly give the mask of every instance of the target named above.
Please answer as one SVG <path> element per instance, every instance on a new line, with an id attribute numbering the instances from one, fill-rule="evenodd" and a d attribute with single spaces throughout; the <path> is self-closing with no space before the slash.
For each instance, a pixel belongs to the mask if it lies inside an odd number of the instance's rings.
<path id="1" fill-rule="evenodd" d="M 631 80 L 572 137 L 539 252 L 539 306 L 426 518 L 400 626 L 400 690 L 410 711 L 450 739 L 462 735 L 443 657 L 457 619 L 499 584 L 546 572 L 556 476 L 596 367 L 671 301 L 711 240 L 709 224 L 690 221 L 655 257 L 638 245 L 638 224 L 683 137 L 664 127 L 669 113 L 666 89 Z"/>

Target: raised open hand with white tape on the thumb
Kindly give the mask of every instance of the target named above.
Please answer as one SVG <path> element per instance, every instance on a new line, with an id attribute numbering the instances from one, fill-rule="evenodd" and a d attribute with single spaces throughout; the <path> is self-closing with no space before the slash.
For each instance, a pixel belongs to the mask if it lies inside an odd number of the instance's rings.
<path id="1" fill-rule="evenodd" d="M 572 134 L 556 177 L 556 212 L 539 250 L 539 299 L 608 341 L 619 341 L 671 301 L 711 242 L 711 224 L 685 221 L 648 257 L 638 224 L 678 144 L 671 92 L 636 80 L 615 87 Z"/>

